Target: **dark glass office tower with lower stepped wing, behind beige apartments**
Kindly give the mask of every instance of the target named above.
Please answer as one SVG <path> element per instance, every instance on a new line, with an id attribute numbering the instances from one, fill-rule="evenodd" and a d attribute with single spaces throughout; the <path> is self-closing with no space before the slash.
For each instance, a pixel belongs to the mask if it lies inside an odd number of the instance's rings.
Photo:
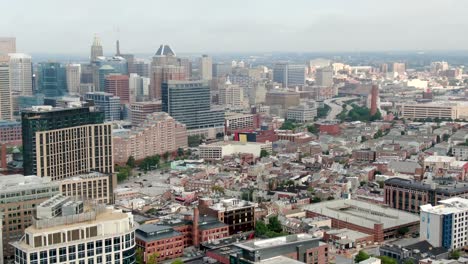
<path id="1" fill-rule="evenodd" d="M 162 84 L 162 110 L 187 129 L 224 126 L 224 111 L 211 109 L 210 87 L 203 81 L 168 81 Z"/>

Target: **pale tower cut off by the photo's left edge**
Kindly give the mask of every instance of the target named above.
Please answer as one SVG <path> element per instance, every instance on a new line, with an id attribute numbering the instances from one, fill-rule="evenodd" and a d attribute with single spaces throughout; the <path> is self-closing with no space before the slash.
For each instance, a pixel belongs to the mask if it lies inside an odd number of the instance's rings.
<path id="1" fill-rule="evenodd" d="M 0 57 L 0 120 L 13 118 L 8 60 L 8 57 Z"/>

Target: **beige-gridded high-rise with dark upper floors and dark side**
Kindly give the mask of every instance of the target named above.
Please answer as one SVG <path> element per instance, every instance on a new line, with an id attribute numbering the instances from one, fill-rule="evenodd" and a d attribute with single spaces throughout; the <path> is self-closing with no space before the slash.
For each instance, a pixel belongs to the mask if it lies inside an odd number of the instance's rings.
<path id="1" fill-rule="evenodd" d="M 113 172 L 112 127 L 94 106 L 37 106 L 21 113 L 25 175 L 60 180 Z"/>

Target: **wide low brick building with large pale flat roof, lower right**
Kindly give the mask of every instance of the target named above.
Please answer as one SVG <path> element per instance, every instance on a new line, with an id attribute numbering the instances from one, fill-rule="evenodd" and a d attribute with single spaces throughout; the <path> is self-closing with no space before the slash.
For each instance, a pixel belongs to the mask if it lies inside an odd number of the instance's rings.
<path id="1" fill-rule="evenodd" d="M 333 228 L 348 228 L 374 235 L 374 242 L 393 238 L 398 229 L 419 229 L 419 217 L 404 211 L 358 200 L 334 200 L 304 207 L 306 217 L 326 216 Z"/>

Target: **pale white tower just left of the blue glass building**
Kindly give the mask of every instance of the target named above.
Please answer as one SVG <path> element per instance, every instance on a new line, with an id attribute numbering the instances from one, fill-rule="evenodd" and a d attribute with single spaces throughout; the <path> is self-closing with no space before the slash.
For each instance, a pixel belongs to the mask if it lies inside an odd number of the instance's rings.
<path id="1" fill-rule="evenodd" d="M 32 95 L 31 56 L 24 53 L 10 53 L 10 87 L 19 95 Z"/>

